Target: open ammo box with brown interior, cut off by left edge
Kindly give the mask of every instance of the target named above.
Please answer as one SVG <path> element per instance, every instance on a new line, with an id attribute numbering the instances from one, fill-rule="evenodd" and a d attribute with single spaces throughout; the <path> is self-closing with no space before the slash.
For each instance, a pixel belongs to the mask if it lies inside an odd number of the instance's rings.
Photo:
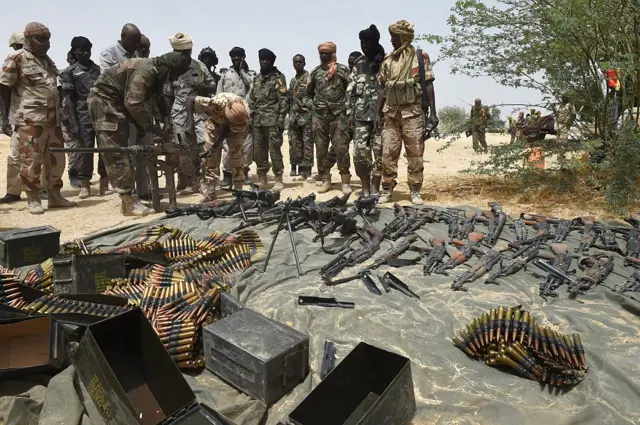
<path id="1" fill-rule="evenodd" d="M 50 317 L 0 320 L 0 378 L 57 372 L 68 357 L 65 333 Z"/>

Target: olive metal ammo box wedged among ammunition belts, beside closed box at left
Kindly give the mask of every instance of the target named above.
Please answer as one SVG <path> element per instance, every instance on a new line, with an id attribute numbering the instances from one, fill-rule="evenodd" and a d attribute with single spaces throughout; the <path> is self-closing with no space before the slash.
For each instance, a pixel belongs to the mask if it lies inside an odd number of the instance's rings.
<path id="1" fill-rule="evenodd" d="M 102 293 L 111 279 L 127 277 L 125 254 L 71 255 L 53 259 L 56 294 Z"/>

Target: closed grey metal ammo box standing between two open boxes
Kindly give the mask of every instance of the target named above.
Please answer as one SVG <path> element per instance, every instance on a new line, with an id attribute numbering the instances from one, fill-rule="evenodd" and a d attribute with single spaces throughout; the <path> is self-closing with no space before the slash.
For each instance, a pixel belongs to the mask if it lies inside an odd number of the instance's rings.
<path id="1" fill-rule="evenodd" d="M 309 337 L 250 309 L 203 331 L 207 369 L 270 405 L 309 373 Z"/>

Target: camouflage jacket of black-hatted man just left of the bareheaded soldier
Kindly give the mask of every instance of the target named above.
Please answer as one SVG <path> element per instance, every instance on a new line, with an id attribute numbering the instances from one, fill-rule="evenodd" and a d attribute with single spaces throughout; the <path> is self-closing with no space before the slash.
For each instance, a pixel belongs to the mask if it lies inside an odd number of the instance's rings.
<path id="1" fill-rule="evenodd" d="M 287 116 L 287 80 L 273 68 L 268 75 L 258 74 L 253 80 L 248 101 L 253 125 L 269 127 L 284 123 Z"/>

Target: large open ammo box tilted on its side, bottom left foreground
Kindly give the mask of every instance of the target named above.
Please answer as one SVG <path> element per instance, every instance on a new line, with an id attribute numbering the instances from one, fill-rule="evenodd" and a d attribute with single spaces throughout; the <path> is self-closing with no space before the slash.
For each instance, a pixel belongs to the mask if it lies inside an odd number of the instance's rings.
<path id="1" fill-rule="evenodd" d="M 107 425 L 233 425 L 196 402 L 139 309 L 89 326 L 73 365 Z"/>

